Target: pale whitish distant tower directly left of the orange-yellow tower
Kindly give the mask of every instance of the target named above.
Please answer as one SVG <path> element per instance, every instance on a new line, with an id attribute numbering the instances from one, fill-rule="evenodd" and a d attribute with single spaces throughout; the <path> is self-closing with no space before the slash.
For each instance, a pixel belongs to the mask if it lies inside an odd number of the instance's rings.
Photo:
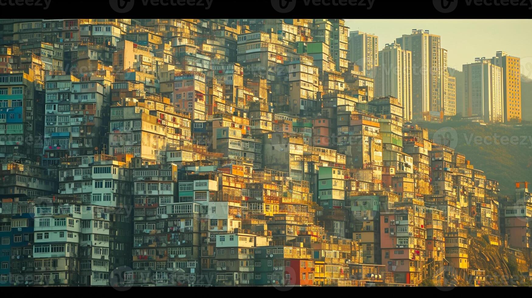
<path id="1" fill-rule="evenodd" d="M 485 122 L 504 122 L 502 68 L 490 59 L 464 64 L 464 116 Z"/>

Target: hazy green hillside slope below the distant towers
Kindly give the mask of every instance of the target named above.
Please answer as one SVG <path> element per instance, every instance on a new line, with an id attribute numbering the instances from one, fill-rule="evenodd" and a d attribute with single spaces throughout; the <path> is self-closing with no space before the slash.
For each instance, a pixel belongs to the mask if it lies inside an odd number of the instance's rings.
<path id="1" fill-rule="evenodd" d="M 486 178 L 499 182 L 501 195 L 513 194 L 516 181 L 532 180 L 532 126 L 521 127 L 486 125 L 464 121 L 447 121 L 444 123 L 423 122 L 420 126 L 429 129 L 429 138 L 444 127 L 452 127 L 458 135 L 455 150 L 465 154 L 476 169 L 483 170 Z M 481 137 L 477 145 L 475 137 Z M 493 143 L 493 136 L 498 136 L 498 143 Z M 506 145 L 501 144 L 501 136 L 507 136 Z M 517 136 L 517 144 L 510 143 L 510 138 Z M 525 138 L 523 139 L 524 136 Z M 486 137 L 486 144 L 484 138 Z M 503 139 L 504 141 L 504 139 Z M 514 142 L 516 143 L 516 142 Z"/>

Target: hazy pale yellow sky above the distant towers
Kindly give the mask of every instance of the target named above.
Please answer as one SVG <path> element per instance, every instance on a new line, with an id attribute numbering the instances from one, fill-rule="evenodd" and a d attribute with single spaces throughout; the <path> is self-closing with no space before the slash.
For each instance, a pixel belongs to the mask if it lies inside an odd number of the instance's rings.
<path id="1" fill-rule="evenodd" d="M 462 64 L 475 57 L 493 57 L 504 51 L 521 58 L 522 74 L 532 77 L 532 20 L 346 20 L 349 31 L 364 31 L 379 37 L 379 49 L 412 29 L 430 30 L 442 37 L 448 50 L 449 67 L 462 70 Z"/>

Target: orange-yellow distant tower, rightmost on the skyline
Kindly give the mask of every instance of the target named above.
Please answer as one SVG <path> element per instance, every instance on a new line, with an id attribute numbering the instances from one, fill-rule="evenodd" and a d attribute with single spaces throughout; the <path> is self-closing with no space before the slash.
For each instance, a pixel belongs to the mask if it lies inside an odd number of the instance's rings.
<path id="1" fill-rule="evenodd" d="M 504 121 L 521 122 L 521 59 L 499 51 L 492 64 L 502 68 Z"/>

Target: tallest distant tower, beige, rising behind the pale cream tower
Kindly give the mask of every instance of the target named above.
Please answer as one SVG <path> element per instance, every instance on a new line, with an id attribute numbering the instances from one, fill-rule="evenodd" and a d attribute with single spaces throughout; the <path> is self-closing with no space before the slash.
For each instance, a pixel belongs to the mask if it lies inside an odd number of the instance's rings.
<path id="1" fill-rule="evenodd" d="M 442 51 L 440 36 L 429 30 L 412 30 L 412 34 L 396 39 L 401 48 L 412 52 L 412 109 L 414 119 L 422 119 L 428 112 L 443 109 Z"/>

